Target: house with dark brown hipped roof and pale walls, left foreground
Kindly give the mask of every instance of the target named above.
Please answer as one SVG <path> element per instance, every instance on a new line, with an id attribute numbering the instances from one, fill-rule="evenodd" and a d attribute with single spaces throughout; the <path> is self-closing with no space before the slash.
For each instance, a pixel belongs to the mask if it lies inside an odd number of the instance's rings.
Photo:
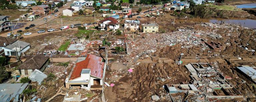
<path id="1" fill-rule="evenodd" d="M 17 69 L 21 75 L 30 75 L 35 69 L 43 72 L 49 62 L 49 56 L 33 55 L 29 56 Z"/>

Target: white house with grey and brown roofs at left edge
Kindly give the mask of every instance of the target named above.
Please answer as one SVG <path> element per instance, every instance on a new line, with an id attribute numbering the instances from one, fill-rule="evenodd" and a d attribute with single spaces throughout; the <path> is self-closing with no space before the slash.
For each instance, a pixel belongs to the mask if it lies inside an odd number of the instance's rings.
<path id="1" fill-rule="evenodd" d="M 20 55 L 29 48 L 29 43 L 18 41 L 17 39 L 0 37 L 0 49 L 4 49 L 5 55 L 16 56 L 16 53 Z"/>

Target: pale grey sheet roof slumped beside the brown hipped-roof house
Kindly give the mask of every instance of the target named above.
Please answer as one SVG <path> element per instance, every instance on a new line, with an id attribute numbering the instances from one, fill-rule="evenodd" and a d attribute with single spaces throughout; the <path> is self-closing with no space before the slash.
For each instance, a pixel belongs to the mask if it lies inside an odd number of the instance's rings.
<path id="1" fill-rule="evenodd" d="M 34 81 L 34 82 L 39 82 L 41 83 L 44 78 L 46 78 L 47 75 L 45 75 L 43 72 L 41 72 L 40 70 L 35 69 L 30 75 L 29 75 L 29 79 Z"/>

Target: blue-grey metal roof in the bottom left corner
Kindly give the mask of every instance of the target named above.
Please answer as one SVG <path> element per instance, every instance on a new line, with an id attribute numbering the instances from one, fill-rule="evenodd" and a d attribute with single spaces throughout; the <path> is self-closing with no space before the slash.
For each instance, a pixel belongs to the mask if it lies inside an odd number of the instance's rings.
<path id="1" fill-rule="evenodd" d="M 19 101 L 19 95 L 28 86 L 28 83 L 5 83 L 0 84 L 0 102 Z"/>

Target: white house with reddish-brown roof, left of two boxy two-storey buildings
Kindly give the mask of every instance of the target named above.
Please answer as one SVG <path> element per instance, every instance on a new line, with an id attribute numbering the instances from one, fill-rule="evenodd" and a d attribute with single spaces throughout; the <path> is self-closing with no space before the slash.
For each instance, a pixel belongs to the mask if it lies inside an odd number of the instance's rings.
<path id="1" fill-rule="evenodd" d="M 99 21 L 98 28 L 100 30 L 117 30 L 119 28 L 119 21 L 113 17 L 105 18 Z"/>

